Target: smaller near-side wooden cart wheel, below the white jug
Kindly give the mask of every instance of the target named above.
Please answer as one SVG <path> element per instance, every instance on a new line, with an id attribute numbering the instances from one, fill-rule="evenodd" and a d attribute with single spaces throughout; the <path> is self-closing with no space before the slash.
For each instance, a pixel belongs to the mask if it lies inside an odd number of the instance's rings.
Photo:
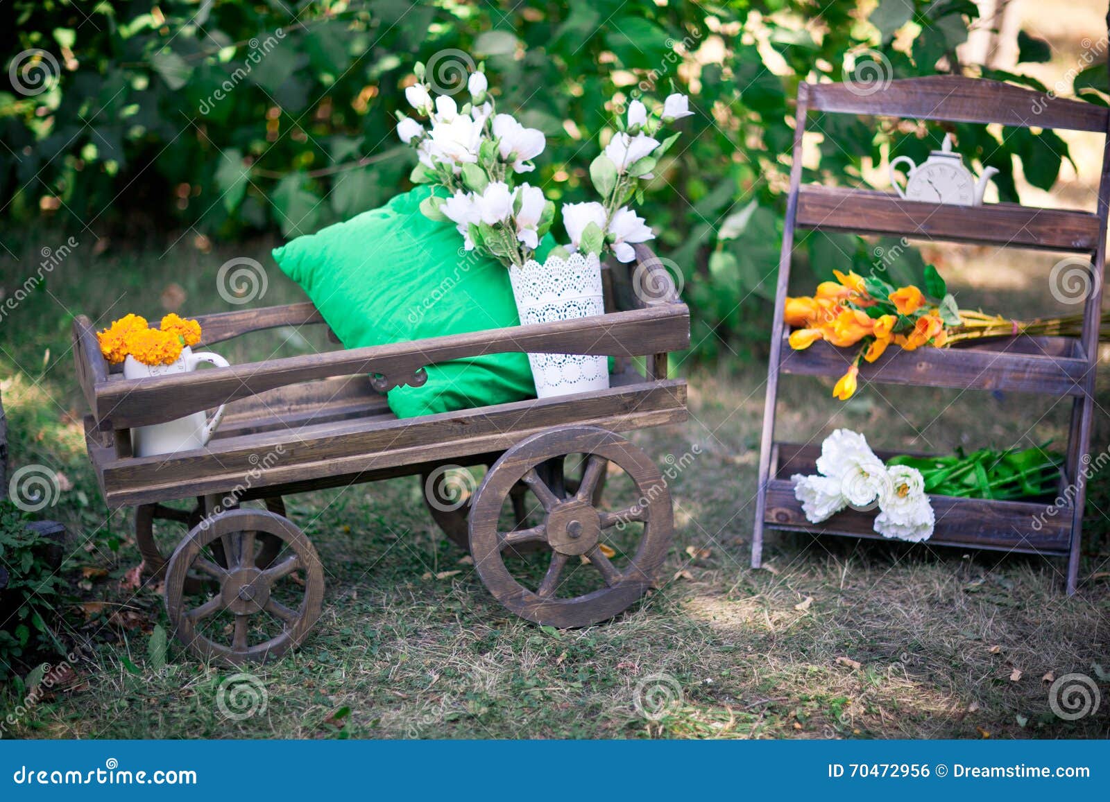
<path id="1" fill-rule="evenodd" d="M 266 535 L 282 548 L 273 565 L 260 569 Z M 229 555 L 226 568 L 215 562 L 218 541 Z M 190 571 L 215 580 L 215 591 L 191 591 Z M 178 639 L 196 657 L 236 666 L 280 657 L 301 643 L 320 618 L 323 597 L 324 570 L 309 538 L 287 518 L 260 509 L 229 510 L 208 528 L 193 528 L 165 575 L 165 609 Z"/>

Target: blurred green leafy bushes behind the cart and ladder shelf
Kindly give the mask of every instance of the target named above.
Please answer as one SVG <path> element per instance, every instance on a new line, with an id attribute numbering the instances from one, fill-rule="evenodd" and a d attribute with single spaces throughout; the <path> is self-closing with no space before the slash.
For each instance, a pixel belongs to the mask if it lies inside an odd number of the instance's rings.
<path id="1" fill-rule="evenodd" d="M 548 135 L 537 179 L 555 200 L 587 194 L 607 114 L 633 93 L 687 92 L 697 114 L 642 213 L 684 272 L 708 357 L 766 339 L 798 82 L 965 71 L 955 48 L 978 13 L 969 0 L 13 0 L 8 11 L 6 68 L 53 59 L 57 71 L 39 94 L 0 91 L 4 214 L 93 231 L 293 236 L 383 203 L 411 167 L 392 113 L 406 108 L 413 64 L 448 49 L 484 60 L 501 108 Z M 1021 49 L 1048 58 L 1036 39 Z M 1102 102 L 1094 83 L 1077 87 Z M 861 183 L 885 146 L 924 158 L 942 133 L 815 123 L 820 175 L 807 179 L 841 183 Z M 1051 132 L 956 132 L 965 154 L 1001 171 L 1003 200 L 1016 197 L 1016 159 L 1048 186 L 1067 158 Z M 852 237 L 805 248 L 821 275 L 872 260 Z M 919 266 L 906 251 L 890 268 Z"/>

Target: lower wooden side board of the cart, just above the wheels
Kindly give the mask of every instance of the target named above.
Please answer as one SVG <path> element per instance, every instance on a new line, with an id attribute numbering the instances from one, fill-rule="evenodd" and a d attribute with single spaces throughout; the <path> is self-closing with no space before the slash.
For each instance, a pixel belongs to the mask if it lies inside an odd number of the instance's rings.
<path id="1" fill-rule="evenodd" d="M 105 500 L 118 507 L 185 493 L 303 486 L 319 478 L 450 461 L 502 450 L 528 434 L 563 424 L 627 430 L 684 419 L 686 383 L 667 380 L 405 420 L 353 420 L 230 437 L 180 456 L 114 459 L 94 448 L 90 454 Z"/>

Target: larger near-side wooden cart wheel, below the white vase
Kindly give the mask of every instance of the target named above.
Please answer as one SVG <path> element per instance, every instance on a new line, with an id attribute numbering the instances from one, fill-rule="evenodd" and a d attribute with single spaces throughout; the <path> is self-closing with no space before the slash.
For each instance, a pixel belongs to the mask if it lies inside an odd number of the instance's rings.
<path id="1" fill-rule="evenodd" d="M 588 455 L 576 493 L 561 498 L 538 470 L 568 454 Z M 632 506 L 607 511 L 593 493 L 607 463 L 615 463 L 635 485 Z M 505 498 L 524 481 L 544 506 L 544 521 L 526 529 L 498 526 Z M 602 550 L 607 530 L 643 524 L 643 535 L 627 565 L 617 567 Z M 607 429 L 573 426 L 533 435 L 509 448 L 486 474 L 471 507 L 471 555 L 490 592 L 517 616 L 553 627 L 586 627 L 627 609 L 652 586 L 674 534 L 670 493 L 655 464 L 639 448 Z M 522 542 L 542 542 L 552 550 L 546 573 L 535 589 L 522 585 L 505 565 L 504 554 Z M 603 586 L 559 598 L 561 576 L 581 557 L 601 575 Z"/>

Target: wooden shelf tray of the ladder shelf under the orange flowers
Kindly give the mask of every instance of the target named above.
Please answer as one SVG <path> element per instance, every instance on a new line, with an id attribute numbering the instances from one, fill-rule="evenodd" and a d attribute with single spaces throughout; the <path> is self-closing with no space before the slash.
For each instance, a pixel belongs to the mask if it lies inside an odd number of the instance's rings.
<path id="1" fill-rule="evenodd" d="M 1029 353 L 1037 347 L 1043 351 Z M 1077 341 L 1067 337 L 1015 337 L 976 348 L 924 347 L 911 352 L 891 346 L 874 363 L 860 364 L 859 380 L 1078 396 L 1083 393 L 1083 376 L 1089 369 L 1087 361 L 1076 355 L 1078 347 Z M 836 348 L 825 342 L 805 351 L 791 351 L 784 343 L 779 365 L 783 373 L 837 377 L 848 369 L 855 355 L 852 348 Z"/>

